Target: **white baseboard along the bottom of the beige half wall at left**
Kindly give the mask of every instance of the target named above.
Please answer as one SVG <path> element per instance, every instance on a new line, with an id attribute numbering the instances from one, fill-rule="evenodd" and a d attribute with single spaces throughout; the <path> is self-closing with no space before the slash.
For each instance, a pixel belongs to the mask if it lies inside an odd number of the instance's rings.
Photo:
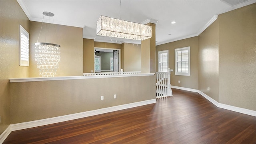
<path id="1" fill-rule="evenodd" d="M 108 113 L 108 112 L 114 112 L 117 110 L 124 110 L 127 108 L 134 108 L 137 106 L 143 106 L 143 105 L 147 105 L 147 104 L 154 104 L 156 103 L 156 99 L 152 99 L 152 100 L 144 100 L 141 102 L 134 102 L 134 103 L 130 103 L 130 104 L 123 104 L 123 105 L 119 105 L 119 106 L 112 106 L 112 107 L 108 107 L 108 108 L 101 108 L 98 110 L 90 110 L 87 112 L 80 112 L 80 113 L 76 113 L 76 114 L 68 114 L 65 116 L 57 116 L 54 118 L 46 118 L 46 119 L 42 119 L 42 120 L 34 120 L 34 121 L 30 121 L 30 122 L 22 122 L 22 123 L 18 123 L 18 124 L 11 124 L 10 126 L 8 126 L 8 128 L 6 128 L 6 130 L 0 135 L 0 144 L 2 144 L 4 142 L 4 140 L 7 138 L 7 136 L 14 130 L 22 130 L 22 129 L 26 129 L 26 128 L 33 128 L 36 126 L 44 126 L 47 124 L 54 124 L 54 123 L 58 123 L 58 122 L 64 122 L 64 121 L 68 121 L 68 120 L 75 120 L 78 118 L 85 118 L 88 116 L 95 116 L 98 114 L 104 114 L 104 113 Z"/>

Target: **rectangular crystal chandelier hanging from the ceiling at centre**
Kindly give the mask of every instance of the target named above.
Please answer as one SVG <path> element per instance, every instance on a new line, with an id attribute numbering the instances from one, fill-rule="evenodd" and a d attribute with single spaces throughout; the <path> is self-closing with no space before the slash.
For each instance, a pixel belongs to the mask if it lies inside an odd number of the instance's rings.
<path id="1" fill-rule="evenodd" d="M 151 26 L 110 18 L 107 16 L 100 16 L 97 21 L 96 31 L 97 35 L 100 36 L 132 40 L 146 40 L 152 36 Z"/>

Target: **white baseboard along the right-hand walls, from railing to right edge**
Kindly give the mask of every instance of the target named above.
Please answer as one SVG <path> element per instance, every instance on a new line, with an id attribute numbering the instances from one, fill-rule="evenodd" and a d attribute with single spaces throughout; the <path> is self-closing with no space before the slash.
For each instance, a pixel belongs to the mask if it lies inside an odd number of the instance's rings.
<path id="1" fill-rule="evenodd" d="M 198 92 L 198 94 L 202 95 L 204 98 L 206 98 L 207 100 L 212 102 L 212 104 L 214 104 L 218 108 L 224 108 L 226 110 L 231 110 L 231 111 L 234 111 L 234 112 L 240 112 L 242 114 L 248 114 L 250 116 L 256 116 L 256 111 L 255 110 L 248 110 L 246 108 L 239 108 L 239 107 L 236 107 L 236 106 L 230 106 L 230 105 L 227 105 L 227 104 L 219 103 L 216 100 L 214 100 L 213 98 L 211 98 L 210 96 L 207 96 L 206 94 L 201 92 L 200 90 L 196 90 L 196 89 L 192 89 L 192 88 L 184 88 L 184 87 L 180 87 L 180 86 L 171 86 L 171 88 L 176 88 L 176 89 L 180 89 L 180 90 L 187 90 L 187 91 L 190 91 L 190 92 Z"/>

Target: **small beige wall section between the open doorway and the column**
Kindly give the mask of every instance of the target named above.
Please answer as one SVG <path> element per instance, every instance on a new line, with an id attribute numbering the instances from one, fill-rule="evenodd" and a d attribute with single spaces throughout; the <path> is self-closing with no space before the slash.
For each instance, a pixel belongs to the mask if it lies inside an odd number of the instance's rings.
<path id="1" fill-rule="evenodd" d="M 124 43 L 124 71 L 141 71 L 141 45 Z M 121 50 L 122 52 L 122 50 Z"/>

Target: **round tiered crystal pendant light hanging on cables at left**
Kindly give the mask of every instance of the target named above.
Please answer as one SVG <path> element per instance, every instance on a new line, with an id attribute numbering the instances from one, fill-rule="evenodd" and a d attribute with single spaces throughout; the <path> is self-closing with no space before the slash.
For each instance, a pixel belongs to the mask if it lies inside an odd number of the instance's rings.
<path id="1" fill-rule="evenodd" d="M 51 12 L 43 12 L 43 14 L 44 16 L 54 16 L 54 14 Z M 42 26 L 43 23 L 44 17 L 42 21 Z M 38 39 L 42 31 L 42 26 Z M 42 77 L 56 76 L 57 68 L 59 68 L 60 62 L 60 45 L 47 42 L 38 42 L 37 40 L 37 42 L 35 43 L 35 52 L 35 61 L 37 62 L 37 68 L 39 68 L 39 75 Z"/>

